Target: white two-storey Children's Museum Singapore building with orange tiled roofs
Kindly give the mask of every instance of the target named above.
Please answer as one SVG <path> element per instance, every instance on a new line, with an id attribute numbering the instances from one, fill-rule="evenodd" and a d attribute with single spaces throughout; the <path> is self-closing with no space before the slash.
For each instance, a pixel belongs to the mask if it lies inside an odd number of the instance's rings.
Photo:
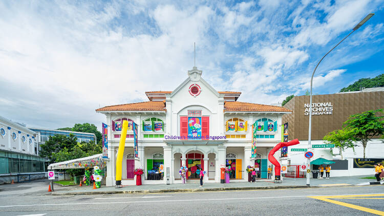
<path id="1" fill-rule="evenodd" d="M 267 155 L 282 139 L 282 115 L 291 111 L 281 106 L 239 102 L 241 92 L 218 92 L 201 75 L 202 71 L 194 67 L 188 71 L 187 79 L 172 92 L 146 92 L 150 101 L 96 110 L 106 116 L 108 124 L 107 186 L 115 185 L 116 155 L 123 120 L 135 122 L 139 127 L 138 159 L 134 157 L 132 124 L 126 136 L 123 185 L 135 184 L 135 167 L 144 168 L 143 184 L 166 183 L 167 169 L 169 183 L 180 183 L 181 165 L 189 167 L 189 179 L 197 179 L 197 167 L 206 170 L 206 182 L 220 182 L 221 165 L 232 167 L 231 178 L 234 180 L 248 178 L 247 165 L 258 165 L 261 177 L 267 178 L 270 165 Z M 251 158 L 252 124 L 260 125 L 255 158 Z M 279 158 L 280 152 L 275 157 Z M 148 180 L 154 177 L 148 170 L 156 171 L 160 164 L 165 167 L 164 180 Z"/>

